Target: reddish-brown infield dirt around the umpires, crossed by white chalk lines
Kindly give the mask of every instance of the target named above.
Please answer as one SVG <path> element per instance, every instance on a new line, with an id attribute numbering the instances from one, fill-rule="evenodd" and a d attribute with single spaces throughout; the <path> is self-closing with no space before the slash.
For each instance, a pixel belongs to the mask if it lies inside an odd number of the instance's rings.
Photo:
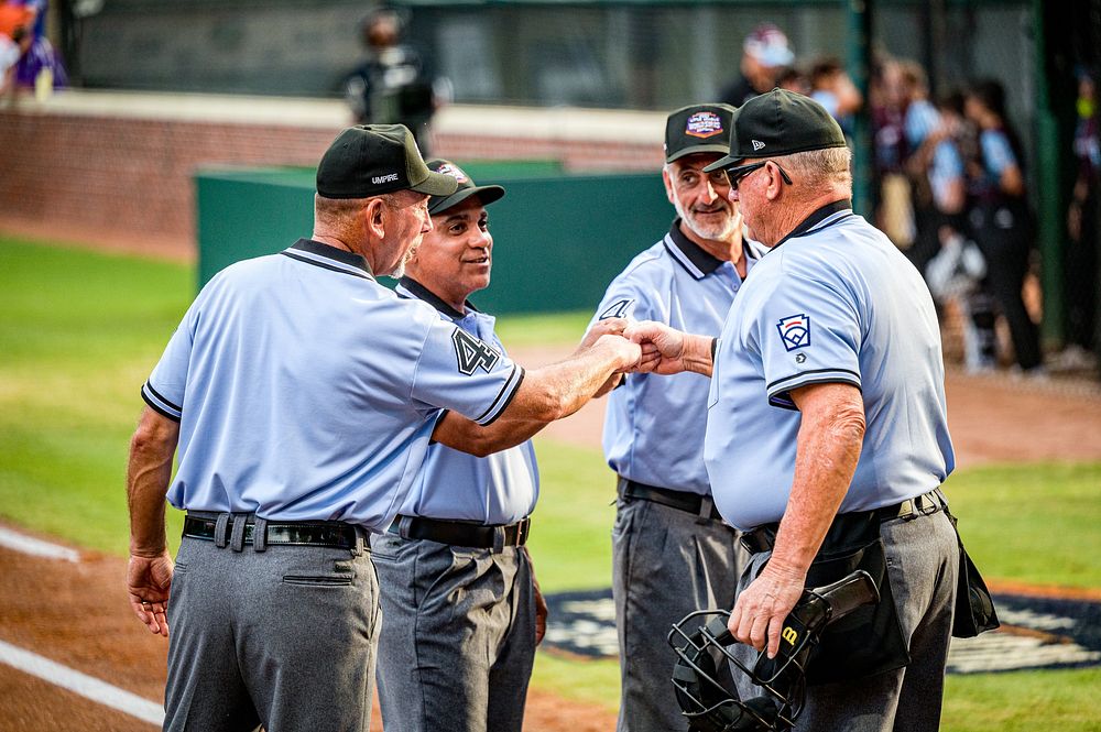
<path id="1" fill-rule="evenodd" d="M 559 352 L 519 353 L 526 365 Z M 1101 460 L 1101 390 L 1086 383 L 948 379 L 949 420 L 962 466 L 990 461 Z M 554 439 L 599 445 L 603 403 L 548 428 Z M 166 643 L 130 615 L 124 560 L 84 553 L 79 562 L 0 548 L 0 641 L 149 700 L 164 689 Z M 378 711 L 375 710 L 375 714 Z M 0 732 L 149 730 L 148 723 L 0 664 Z M 378 718 L 372 729 L 381 729 Z M 525 730 L 607 732 L 607 710 L 533 690 Z"/>

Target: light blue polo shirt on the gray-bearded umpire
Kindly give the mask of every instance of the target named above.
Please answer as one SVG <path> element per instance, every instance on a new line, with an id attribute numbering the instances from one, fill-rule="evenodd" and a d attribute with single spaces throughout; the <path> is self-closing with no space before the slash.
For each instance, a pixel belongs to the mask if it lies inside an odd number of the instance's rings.
<path id="1" fill-rule="evenodd" d="M 756 262 L 749 248 L 745 259 L 749 272 Z M 612 281 L 592 321 L 657 320 L 718 335 L 741 286 L 733 265 L 685 237 L 677 219 Z M 647 485 L 710 493 L 704 466 L 708 389 L 708 379 L 695 373 L 628 374 L 608 396 L 603 448 L 612 470 Z"/>

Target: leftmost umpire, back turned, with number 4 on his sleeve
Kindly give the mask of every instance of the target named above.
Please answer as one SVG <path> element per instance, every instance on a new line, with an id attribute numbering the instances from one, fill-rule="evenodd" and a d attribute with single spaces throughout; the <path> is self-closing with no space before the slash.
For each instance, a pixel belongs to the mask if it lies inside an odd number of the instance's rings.
<path id="1" fill-rule="evenodd" d="M 378 284 L 432 229 L 428 197 L 456 185 L 402 125 L 345 130 L 318 165 L 313 238 L 215 276 L 142 387 L 128 584 L 142 623 L 172 626 L 166 730 L 367 729 L 366 539 L 394 520 L 429 440 L 510 447 L 512 420 L 565 416 L 637 361 L 604 337 L 525 379 Z M 187 511 L 175 566 L 165 496 Z"/>

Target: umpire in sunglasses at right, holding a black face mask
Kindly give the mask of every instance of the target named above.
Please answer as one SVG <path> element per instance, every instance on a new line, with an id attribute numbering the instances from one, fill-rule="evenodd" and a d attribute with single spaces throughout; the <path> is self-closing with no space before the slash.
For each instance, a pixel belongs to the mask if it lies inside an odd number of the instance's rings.
<path id="1" fill-rule="evenodd" d="M 940 330 L 920 274 L 850 206 L 850 153 L 820 105 L 776 89 L 734 116 L 726 170 L 772 248 L 713 351 L 704 455 L 754 553 L 730 630 L 775 654 L 804 587 L 855 568 L 880 603 L 824 636 L 800 730 L 936 730 L 959 548 Z M 657 370 L 710 373 L 713 339 L 643 325 Z M 755 439 L 743 436 L 752 430 Z"/>

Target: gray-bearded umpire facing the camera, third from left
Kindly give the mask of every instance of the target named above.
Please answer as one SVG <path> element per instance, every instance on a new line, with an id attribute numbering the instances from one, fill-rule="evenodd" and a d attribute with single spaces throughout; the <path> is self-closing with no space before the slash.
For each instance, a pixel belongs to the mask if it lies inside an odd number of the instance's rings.
<path id="1" fill-rule="evenodd" d="M 756 259 L 722 171 L 704 168 L 730 149 L 728 105 L 693 105 L 665 124 L 668 232 L 608 286 L 591 332 L 626 319 L 718 335 Z M 615 380 L 621 376 L 614 376 Z M 622 376 L 604 422 L 608 465 L 619 476 L 612 592 L 619 632 L 620 732 L 684 728 L 662 669 L 662 638 L 689 612 L 734 602 L 743 551 L 715 509 L 704 466 L 708 381 L 696 374 Z"/>

